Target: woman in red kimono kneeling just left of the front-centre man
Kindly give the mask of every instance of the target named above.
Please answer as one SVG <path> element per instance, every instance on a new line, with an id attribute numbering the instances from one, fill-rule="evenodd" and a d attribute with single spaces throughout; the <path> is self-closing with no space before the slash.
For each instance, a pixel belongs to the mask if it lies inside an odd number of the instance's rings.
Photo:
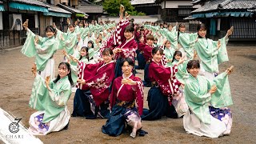
<path id="1" fill-rule="evenodd" d="M 104 62 L 88 64 L 83 70 L 83 78 L 78 79 L 79 88 L 74 95 L 72 116 L 86 118 L 108 118 L 110 113 L 106 102 L 110 95 L 110 85 L 114 80 L 114 54 L 110 48 L 103 50 Z M 79 64 L 79 66 L 81 66 Z M 81 70 L 80 70 L 81 71 Z"/>

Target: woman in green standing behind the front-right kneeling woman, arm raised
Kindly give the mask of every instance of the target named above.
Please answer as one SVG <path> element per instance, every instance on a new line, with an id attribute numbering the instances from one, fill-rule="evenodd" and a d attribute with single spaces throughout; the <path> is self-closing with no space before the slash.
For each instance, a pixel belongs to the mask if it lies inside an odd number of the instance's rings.
<path id="1" fill-rule="evenodd" d="M 195 43 L 194 48 L 197 51 L 198 58 L 201 60 L 202 68 L 200 74 L 213 80 L 214 76 L 218 74 L 218 64 L 229 61 L 226 43 L 233 32 L 233 26 L 227 31 L 226 36 L 218 41 L 206 38 L 206 30 L 204 24 L 198 25 L 198 41 Z"/>

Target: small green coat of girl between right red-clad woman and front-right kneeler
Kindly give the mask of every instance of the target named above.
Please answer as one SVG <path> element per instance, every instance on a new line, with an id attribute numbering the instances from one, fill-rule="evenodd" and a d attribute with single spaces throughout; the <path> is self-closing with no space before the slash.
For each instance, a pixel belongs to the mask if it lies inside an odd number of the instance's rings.
<path id="1" fill-rule="evenodd" d="M 176 78 L 178 79 L 179 82 L 185 84 L 186 79 L 189 78 L 189 73 L 186 70 L 186 65 L 189 61 L 184 61 L 183 63 L 178 65 L 178 72 L 175 74 Z M 174 62 L 172 63 L 172 66 L 177 64 L 178 61 L 174 59 Z"/>

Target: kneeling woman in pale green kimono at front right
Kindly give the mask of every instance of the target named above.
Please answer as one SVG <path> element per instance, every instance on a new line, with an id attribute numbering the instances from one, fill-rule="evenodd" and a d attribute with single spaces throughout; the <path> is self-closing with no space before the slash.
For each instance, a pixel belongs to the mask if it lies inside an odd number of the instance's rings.
<path id="1" fill-rule="evenodd" d="M 198 61 L 188 62 L 190 77 L 186 81 L 184 91 L 190 109 L 183 117 L 183 126 L 187 133 L 210 138 L 230 134 L 232 114 L 226 106 L 233 104 L 228 81 L 232 68 L 233 66 L 219 74 L 212 82 L 198 75 Z"/>

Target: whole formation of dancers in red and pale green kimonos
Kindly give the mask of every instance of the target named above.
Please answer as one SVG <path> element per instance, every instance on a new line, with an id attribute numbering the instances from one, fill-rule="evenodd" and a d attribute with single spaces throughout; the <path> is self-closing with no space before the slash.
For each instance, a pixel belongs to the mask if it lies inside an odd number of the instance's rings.
<path id="1" fill-rule="evenodd" d="M 24 22 L 22 54 L 35 57 L 29 106 L 38 110 L 30 116 L 30 133 L 66 130 L 72 116 L 107 118 L 102 133 L 118 136 L 130 130 L 135 138 L 147 134 L 142 120 L 166 116 L 183 118 L 189 134 L 230 134 L 232 114 L 226 106 L 233 104 L 228 81 L 233 66 L 220 73 L 218 64 L 228 61 L 226 43 L 233 27 L 213 41 L 206 38 L 204 24 L 189 34 L 183 23 L 139 25 L 124 12 L 120 6 L 117 25 L 80 21 L 78 26 L 69 24 L 66 33 L 47 26 L 44 38 L 28 28 L 28 20 Z M 64 60 L 54 78 L 57 50 L 62 50 Z M 136 69 L 144 69 L 144 81 L 135 76 Z M 143 108 L 144 86 L 150 86 L 148 109 Z M 66 103 L 74 87 L 70 114 Z"/>

